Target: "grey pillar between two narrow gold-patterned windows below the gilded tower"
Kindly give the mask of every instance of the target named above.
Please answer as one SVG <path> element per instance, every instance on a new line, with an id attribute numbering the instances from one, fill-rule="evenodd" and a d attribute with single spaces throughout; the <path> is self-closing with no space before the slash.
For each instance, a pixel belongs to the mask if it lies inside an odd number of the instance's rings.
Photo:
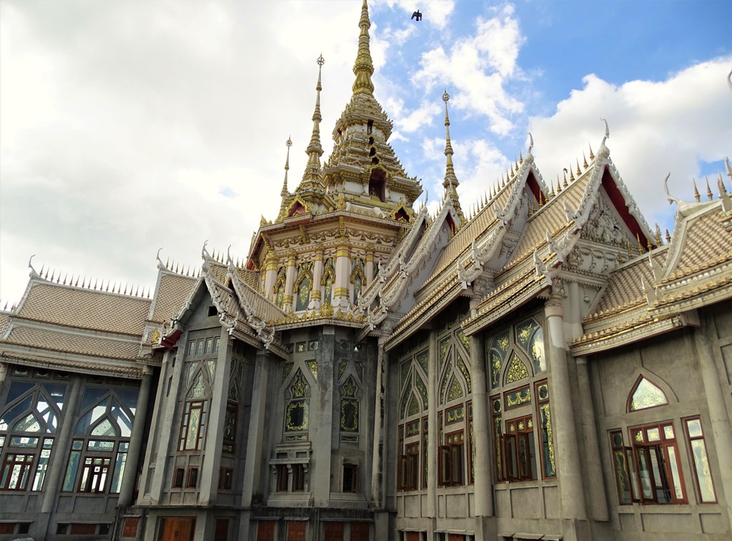
<path id="1" fill-rule="evenodd" d="M 335 353 L 335 327 L 326 325 L 323 327 L 321 335 L 321 346 L 318 348 L 318 392 L 313 392 L 310 398 L 310 411 L 317 411 L 316 415 L 310 416 L 311 434 L 315 429 L 315 448 L 318 456 L 316 463 L 317 474 L 313 478 L 312 469 L 310 469 L 310 488 L 313 490 L 313 499 L 315 507 L 329 507 L 330 502 L 330 480 L 335 475 L 335 479 L 340 479 L 340 463 L 335 464 L 335 471 L 332 464 L 333 444 L 333 423 L 336 425 L 338 419 L 333 419 L 333 355 Z M 312 436 L 311 436 L 312 437 Z M 339 486 L 337 491 L 341 490 Z"/>

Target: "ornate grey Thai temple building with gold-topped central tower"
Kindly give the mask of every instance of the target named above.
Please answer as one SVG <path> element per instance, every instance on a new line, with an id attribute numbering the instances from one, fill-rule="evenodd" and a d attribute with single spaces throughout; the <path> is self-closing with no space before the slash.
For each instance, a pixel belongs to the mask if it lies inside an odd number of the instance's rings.
<path id="1" fill-rule="evenodd" d="M 730 539 L 730 164 L 666 191 L 665 239 L 607 125 L 556 180 L 531 141 L 466 213 L 446 92 L 429 212 L 366 0 L 358 26 L 332 154 L 318 72 L 249 253 L 158 257 L 142 292 L 29 262 L 0 312 L 0 541 Z"/>

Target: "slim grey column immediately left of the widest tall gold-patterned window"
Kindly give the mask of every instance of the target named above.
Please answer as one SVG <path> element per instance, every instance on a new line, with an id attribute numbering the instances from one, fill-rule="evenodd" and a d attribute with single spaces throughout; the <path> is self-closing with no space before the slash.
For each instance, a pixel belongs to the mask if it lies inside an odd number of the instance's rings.
<path id="1" fill-rule="evenodd" d="M 470 337 L 471 378 L 473 380 L 473 439 L 475 446 L 475 514 L 493 516 L 493 453 L 488 427 L 488 396 L 486 394 L 485 346 L 482 337 Z"/>

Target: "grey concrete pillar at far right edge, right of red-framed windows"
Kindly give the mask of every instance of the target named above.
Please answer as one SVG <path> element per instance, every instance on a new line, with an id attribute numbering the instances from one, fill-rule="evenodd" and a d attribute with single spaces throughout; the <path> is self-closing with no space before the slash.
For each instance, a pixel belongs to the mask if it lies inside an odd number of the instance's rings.
<path id="1" fill-rule="evenodd" d="M 728 523 L 732 523 L 732 425 L 725 406 L 725 392 L 722 389 L 722 381 L 726 378 L 717 370 L 714 361 L 714 345 L 709 338 L 709 332 L 714 329 L 711 321 L 699 329 L 695 329 L 694 342 L 697 357 L 699 359 L 699 372 L 704 385 L 704 396 L 709 408 L 709 421 L 712 430 L 706 427 L 706 444 L 714 445 L 717 452 L 717 461 L 720 464 L 721 482 L 714 480 L 714 488 L 717 490 L 717 499 L 725 501 L 725 512 L 727 512 Z M 710 433 L 711 432 L 711 433 Z M 712 436 L 712 437 L 709 437 Z M 721 490 L 720 490 L 721 489 Z"/>

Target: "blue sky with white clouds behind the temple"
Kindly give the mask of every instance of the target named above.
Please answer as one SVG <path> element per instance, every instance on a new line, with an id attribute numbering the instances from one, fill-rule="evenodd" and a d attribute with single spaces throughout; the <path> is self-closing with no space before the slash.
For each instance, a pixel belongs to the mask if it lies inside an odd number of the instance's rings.
<path id="1" fill-rule="evenodd" d="M 376 99 L 438 205 L 444 103 L 470 212 L 526 153 L 545 181 L 607 145 L 646 221 L 669 190 L 716 194 L 732 154 L 732 1 L 370 0 Z M 201 247 L 244 259 L 305 171 L 322 53 L 321 141 L 351 97 L 361 0 L 0 0 L 0 309 L 31 255 L 148 289 Z M 411 19 L 419 8 L 422 20 Z M 576 167 L 576 165 L 575 165 Z M 724 177 L 728 191 L 730 180 Z M 424 198 L 424 196 L 422 198 Z M 45 273 L 45 271 L 44 271 Z"/>

